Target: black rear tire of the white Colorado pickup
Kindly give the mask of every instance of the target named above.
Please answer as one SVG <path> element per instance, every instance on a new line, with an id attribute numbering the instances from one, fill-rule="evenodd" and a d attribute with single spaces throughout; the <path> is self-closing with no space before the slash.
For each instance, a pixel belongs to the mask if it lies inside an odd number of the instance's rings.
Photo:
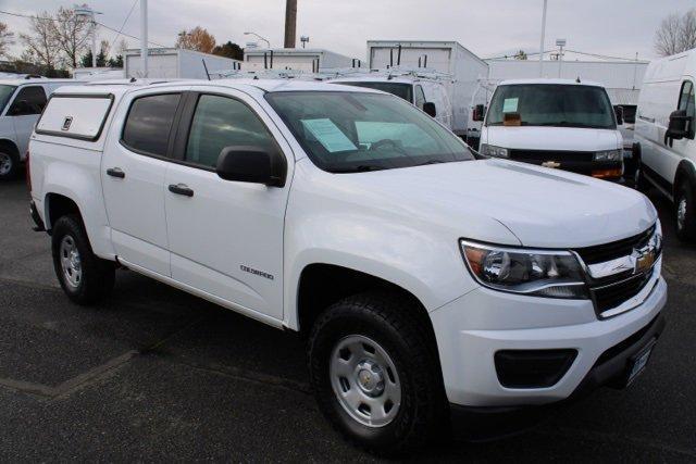
<path id="1" fill-rule="evenodd" d="M 78 252 L 79 275 L 76 284 L 71 284 L 63 271 L 61 243 L 66 240 L 73 243 Z M 53 225 L 51 237 L 53 268 L 65 294 L 77 304 L 94 304 L 107 297 L 113 289 L 115 265 L 111 261 L 95 255 L 87 239 L 87 233 L 77 215 L 61 216 Z"/>

